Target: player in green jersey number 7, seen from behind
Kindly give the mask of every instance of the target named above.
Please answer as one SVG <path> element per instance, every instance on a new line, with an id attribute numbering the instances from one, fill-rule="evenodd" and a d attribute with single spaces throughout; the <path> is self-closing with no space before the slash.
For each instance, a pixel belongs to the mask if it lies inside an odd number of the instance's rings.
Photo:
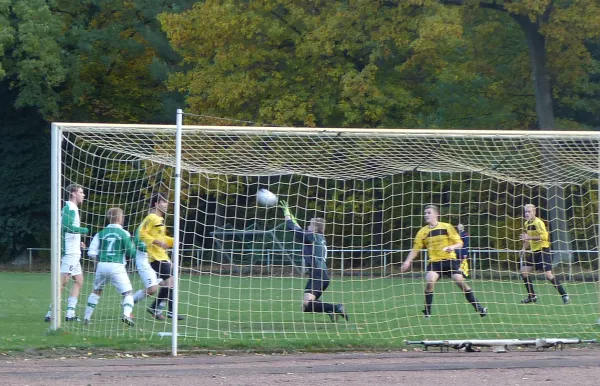
<path id="1" fill-rule="evenodd" d="M 83 322 L 88 324 L 98 305 L 106 283 L 111 282 L 117 291 L 123 295 L 123 315 L 121 320 L 126 324 L 135 325 L 131 317 L 133 308 L 132 287 L 125 269 L 125 256 L 135 257 L 135 245 L 129 232 L 123 229 L 123 211 L 120 208 L 110 208 L 106 212 L 110 222 L 92 239 L 88 255 L 97 261 L 94 277 L 94 290 L 88 297 Z"/>

